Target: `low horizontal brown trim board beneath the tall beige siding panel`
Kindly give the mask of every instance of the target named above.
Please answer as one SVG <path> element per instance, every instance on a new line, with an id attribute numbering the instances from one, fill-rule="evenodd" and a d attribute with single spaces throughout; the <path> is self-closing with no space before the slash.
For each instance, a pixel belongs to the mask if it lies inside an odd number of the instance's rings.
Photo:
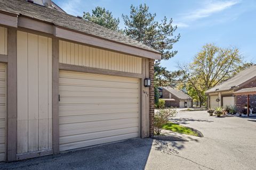
<path id="1" fill-rule="evenodd" d="M 34 151 L 34 152 L 27 152 L 27 153 L 23 153 L 23 154 L 17 154 L 16 155 L 16 160 L 35 158 L 35 157 L 40 157 L 40 156 L 52 155 L 52 154 L 53 154 L 52 149 Z"/>

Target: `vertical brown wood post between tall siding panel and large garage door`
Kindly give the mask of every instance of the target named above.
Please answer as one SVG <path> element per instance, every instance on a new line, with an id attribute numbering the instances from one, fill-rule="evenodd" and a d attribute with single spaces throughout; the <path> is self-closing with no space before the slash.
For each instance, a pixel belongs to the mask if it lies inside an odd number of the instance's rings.
<path id="1" fill-rule="evenodd" d="M 59 40 L 52 39 L 52 148 L 59 154 Z"/>

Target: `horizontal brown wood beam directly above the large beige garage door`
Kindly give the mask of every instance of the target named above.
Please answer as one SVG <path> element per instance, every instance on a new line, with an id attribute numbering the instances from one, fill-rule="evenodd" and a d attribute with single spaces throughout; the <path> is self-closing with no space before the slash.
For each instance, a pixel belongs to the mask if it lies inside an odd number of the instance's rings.
<path id="1" fill-rule="evenodd" d="M 138 79 L 142 78 L 142 74 L 127 73 L 127 72 L 120 72 L 120 71 L 114 71 L 114 70 L 97 69 L 97 68 L 92 68 L 92 67 L 78 66 L 78 65 L 72 65 L 72 64 L 63 64 L 63 63 L 59 63 L 59 69 L 66 70 L 66 71 L 75 71 L 75 72 L 92 73 L 92 74 L 103 74 L 103 75 L 115 75 L 115 76 L 120 76 L 120 77 L 129 77 L 129 78 L 138 78 Z"/>

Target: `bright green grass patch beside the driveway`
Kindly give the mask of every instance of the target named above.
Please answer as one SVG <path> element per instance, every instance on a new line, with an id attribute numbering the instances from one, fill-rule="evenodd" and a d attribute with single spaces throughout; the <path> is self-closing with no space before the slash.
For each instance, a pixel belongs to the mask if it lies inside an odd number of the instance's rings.
<path id="1" fill-rule="evenodd" d="M 187 128 L 182 125 L 179 125 L 179 124 L 172 123 L 172 122 L 166 123 L 163 126 L 163 129 L 198 137 L 198 134 L 195 131 L 193 131 L 192 129 Z"/>

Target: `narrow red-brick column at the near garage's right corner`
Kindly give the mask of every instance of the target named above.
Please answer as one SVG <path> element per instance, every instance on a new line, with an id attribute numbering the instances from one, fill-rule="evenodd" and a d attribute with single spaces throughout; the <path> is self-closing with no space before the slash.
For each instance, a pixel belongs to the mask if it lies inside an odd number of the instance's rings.
<path id="1" fill-rule="evenodd" d="M 155 114 L 155 100 L 154 100 L 154 61 L 149 60 L 149 78 L 151 79 L 151 86 L 149 88 L 149 128 L 150 137 L 154 135 L 154 114 Z"/>

